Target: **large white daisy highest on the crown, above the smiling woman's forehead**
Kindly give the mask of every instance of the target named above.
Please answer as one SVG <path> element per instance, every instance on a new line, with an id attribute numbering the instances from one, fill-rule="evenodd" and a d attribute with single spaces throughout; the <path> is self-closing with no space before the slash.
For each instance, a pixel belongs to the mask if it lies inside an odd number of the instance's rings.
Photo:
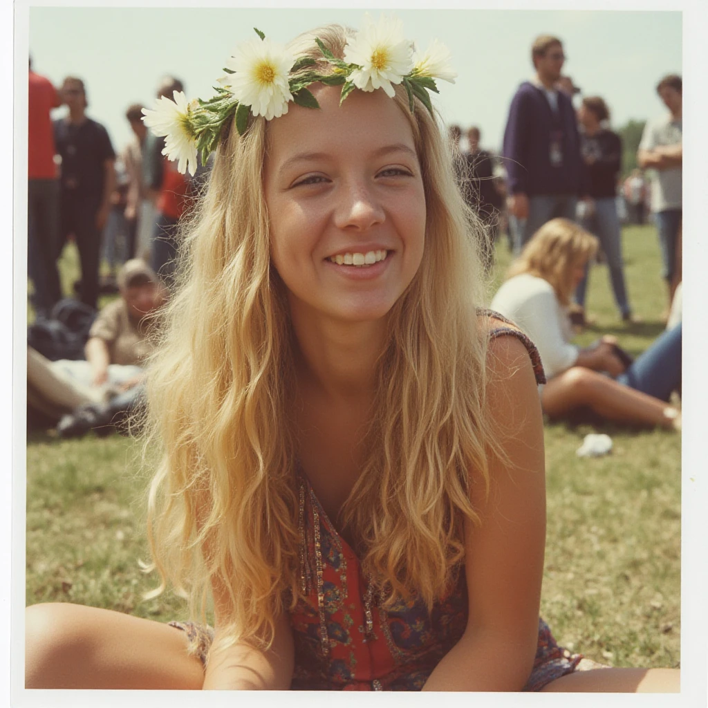
<path id="1" fill-rule="evenodd" d="M 384 89 L 393 98 L 391 84 L 400 84 L 413 69 L 411 43 L 403 36 L 401 21 L 382 15 L 375 24 L 367 14 L 364 27 L 344 47 L 344 61 L 361 67 L 349 76 L 357 89 Z"/>

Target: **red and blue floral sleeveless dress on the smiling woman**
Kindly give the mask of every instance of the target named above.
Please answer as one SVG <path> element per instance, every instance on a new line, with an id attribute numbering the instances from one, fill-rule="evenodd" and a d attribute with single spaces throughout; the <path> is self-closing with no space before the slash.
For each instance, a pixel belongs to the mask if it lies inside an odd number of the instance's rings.
<path id="1" fill-rule="evenodd" d="M 541 361 L 530 340 L 511 326 L 495 329 L 490 336 L 501 334 L 525 343 L 537 382 L 544 383 Z M 297 484 L 304 598 L 290 615 L 295 639 L 292 689 L 421 690 L 467 626 L 464 566 L 459 566 L 450 593 L 435 603 L 432 612 L 415 597 L 384 611 L 358 557 L 327 518 L 307 477 L 298 474 Z M 188 633 L 193 651 L 205 661 L 210 628 L 171 624 Z M 571 673 L 582 658 L 558 646 L 548 625 L 539 619 L 536 657 L 524 690 L 540 690 Z"/>

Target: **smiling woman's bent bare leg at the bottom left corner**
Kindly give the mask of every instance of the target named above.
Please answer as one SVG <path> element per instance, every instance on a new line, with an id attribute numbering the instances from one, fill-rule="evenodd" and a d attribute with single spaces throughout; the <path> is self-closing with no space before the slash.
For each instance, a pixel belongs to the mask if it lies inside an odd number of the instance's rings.
<path id="1" fill-rule="evenodd" d="M 202 663 L 184 632 L 69 603 L 25 611 L 25 688 L 194 689 Z"/>

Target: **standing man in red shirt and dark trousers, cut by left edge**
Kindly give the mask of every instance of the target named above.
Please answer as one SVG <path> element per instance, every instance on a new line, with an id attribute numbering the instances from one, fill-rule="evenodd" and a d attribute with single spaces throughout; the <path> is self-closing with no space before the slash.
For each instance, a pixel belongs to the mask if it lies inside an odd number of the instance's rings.
<path id="1" fill-rule="evenodd" d="M 59 181 L 50 118 L 50 110 L 62 102 L 52 82 L 33 72 L 32 59 L 29 68 L 27 265 L 35 290 L 35 315 L 42 318 L 62 297 L 57 271 Z"/>

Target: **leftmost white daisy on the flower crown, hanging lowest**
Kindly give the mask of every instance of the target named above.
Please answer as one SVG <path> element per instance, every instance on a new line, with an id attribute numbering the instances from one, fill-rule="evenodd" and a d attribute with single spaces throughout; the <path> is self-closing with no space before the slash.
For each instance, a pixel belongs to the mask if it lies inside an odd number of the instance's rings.
<path id="1" fill-rule="evenodd" d="M 155 103 L 155 110 L 143 108 L 143 122 L 155 135 L 165 137 L 162 154 L 169 160 L 177 160 L 177 169 L 182 174 L 189 170 L 194 176 L 197 171 L 197 143 L 189 121 L 190 111 L 198 103 L 188 103 L 182 91 L 173 93 L 174 101 L 161 96 Z"/>

